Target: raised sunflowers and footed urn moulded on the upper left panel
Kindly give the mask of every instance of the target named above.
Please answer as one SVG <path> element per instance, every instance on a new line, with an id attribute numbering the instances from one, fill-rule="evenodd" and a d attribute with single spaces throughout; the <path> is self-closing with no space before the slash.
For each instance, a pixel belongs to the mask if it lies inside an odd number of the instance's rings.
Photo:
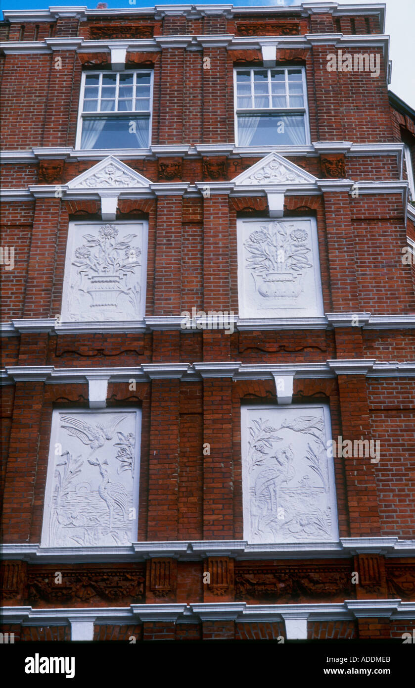
<path id="1" fill-rule="evenodd" d="M 76 248 L 72 264 L 78 268 L 78 274 L 85 276 L 85 288 L 81 291 L 91 297 L 92 308 L 116 307 L 120 294 L 126 294 L 137 310 L 139 287 L 127 286 L 126 278 L 139 267 L 137 257 L 141 250 L 131 246 L 137 235 L 128 234 L 122 241 L 117 241 L 117 235 L 117 228 L 111 224 L 101 226 L 98 237 L 85 234 L 85 243 Z"/>

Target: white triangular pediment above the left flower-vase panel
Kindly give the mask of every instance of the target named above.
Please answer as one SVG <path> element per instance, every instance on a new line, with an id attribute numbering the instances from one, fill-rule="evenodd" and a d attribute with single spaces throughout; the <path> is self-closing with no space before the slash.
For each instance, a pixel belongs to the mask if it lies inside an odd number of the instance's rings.
<path id="1" fill-rule="evenodd" d="M 68 189 L 128 189 L 143 188 L 152 184 L 149 179 L 131 169 L 113 155 L 100 160 L 86 172 L 69 182 Z"/>

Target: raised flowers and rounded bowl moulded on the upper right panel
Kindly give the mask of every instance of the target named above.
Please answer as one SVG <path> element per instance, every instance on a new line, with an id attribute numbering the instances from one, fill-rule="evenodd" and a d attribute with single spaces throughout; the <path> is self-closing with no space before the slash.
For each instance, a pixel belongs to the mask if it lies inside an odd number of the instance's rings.
<path id="1" fill-rule="evenodd" d="M 302 274 L 313 266 L 307 259 L 309 234 L 295 224 L 271 222 L 249 235 L 247 268 L 260 278 L 258 292 L 265 298 L 298 297 Z"/>

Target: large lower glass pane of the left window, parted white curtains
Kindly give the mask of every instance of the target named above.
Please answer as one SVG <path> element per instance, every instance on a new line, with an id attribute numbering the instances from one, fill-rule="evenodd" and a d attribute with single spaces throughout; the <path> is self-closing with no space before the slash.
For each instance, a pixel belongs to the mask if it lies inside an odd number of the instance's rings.
<path id="1" fill-rule="evenodd" d="M 149 118 L 84 118 L 82 149 L 147 148 Z"/>

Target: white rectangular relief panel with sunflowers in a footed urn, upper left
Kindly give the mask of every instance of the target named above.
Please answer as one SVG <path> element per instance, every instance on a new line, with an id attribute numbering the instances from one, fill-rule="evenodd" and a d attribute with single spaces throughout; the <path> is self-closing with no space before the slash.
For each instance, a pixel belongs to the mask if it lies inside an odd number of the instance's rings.
<path id="1" fill-rule="evenodd" d="M 146 299 L 147 224 L 71 222 L 62 320 L 142 320 Z"/>

